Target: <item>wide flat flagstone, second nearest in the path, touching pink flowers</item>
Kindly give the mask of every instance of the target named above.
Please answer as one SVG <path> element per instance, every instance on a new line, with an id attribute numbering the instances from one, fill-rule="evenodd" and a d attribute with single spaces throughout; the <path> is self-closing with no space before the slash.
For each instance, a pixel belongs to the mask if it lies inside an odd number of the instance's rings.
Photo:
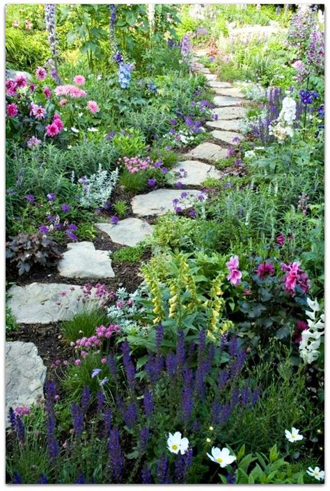
<path id="1" fill-rule="evenodd" d="M 8 291 L 8 306 L 18 324 L 50 324 L 70 319 L 81 309 L 83 298 L 79 286 L 66 283 L 14 285 Z M 92 288 L 84 307 L 100 302 L 95 292 L 96 288 Z"/>

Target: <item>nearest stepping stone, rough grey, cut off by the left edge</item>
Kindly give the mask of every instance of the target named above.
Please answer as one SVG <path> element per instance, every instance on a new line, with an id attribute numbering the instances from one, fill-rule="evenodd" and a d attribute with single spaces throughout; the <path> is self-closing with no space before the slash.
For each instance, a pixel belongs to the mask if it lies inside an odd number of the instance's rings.
<path id="1" fill-rule="evenodd" d="M 6 343 L 6 415 L 10 407 L 29 407 L 43 396 L 46 372 L 35 344 Z M 6 426 L 9 426 L 8 419 Z"/>

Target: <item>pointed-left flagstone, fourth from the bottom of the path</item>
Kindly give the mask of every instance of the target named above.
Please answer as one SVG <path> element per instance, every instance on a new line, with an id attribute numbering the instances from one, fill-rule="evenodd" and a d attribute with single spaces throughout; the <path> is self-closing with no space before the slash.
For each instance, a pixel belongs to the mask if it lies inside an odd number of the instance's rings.
<path id="1" fill-rule="evenodd" d="M 102 232 L 107 233 L 113 242 L 116 244 L 127 245 L 130 247 L 136 246 L 141 240 L 144 240 L 147 235 L 152 233 L 153 227 L 148 224 L 148 221 L 139 218 L 125 218 L 118 221 L 118 224 L 109 223 L 97 224 Z"/>

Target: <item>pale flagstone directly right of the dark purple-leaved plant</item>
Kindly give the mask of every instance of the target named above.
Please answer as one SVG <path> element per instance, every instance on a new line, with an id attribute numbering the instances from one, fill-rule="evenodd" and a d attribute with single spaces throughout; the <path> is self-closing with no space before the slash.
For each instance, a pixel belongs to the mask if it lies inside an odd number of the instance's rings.
<path id="1" fill-rule="evenodd" d="M 114 278 L 109 251 L 97 251 L 93 242 L 72 242 L 58 263 L 65 278 Z"/>

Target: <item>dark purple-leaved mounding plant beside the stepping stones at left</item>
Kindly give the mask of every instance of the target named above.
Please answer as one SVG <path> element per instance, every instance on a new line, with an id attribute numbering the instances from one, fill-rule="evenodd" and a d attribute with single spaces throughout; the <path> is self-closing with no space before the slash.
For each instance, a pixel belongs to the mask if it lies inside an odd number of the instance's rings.
<path id="1" fill-rule="evenodd" d="M 17 265 L 18 274 L 28 273 L 33 265 L 47 267 L 61 258 L 58 245 L 47 235 L 20 233 L 6 242 L 6 258 Z"/>

